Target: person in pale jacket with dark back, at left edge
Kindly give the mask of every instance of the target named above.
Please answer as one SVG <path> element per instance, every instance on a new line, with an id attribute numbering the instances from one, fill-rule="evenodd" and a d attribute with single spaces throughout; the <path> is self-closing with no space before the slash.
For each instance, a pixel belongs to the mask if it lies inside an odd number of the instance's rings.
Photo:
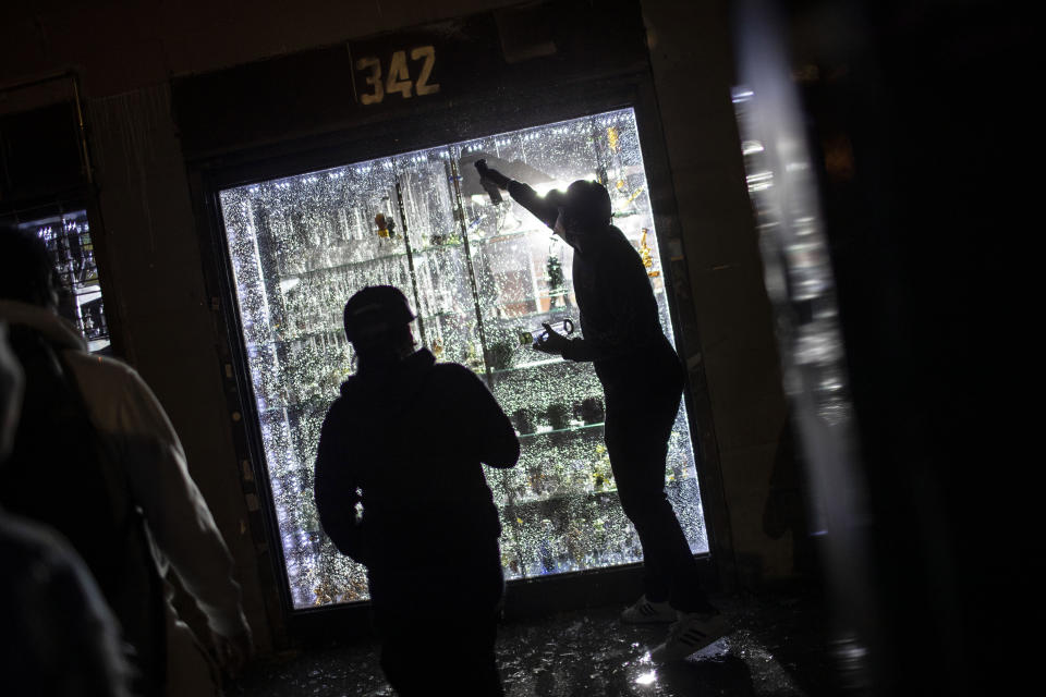
<path id="1" fill-rule="evenodd" d="M 156 396 L 130 366 L 87 353 L 83 337 L 56 311 L 59 292 L 44 242 L 0 230 L 0 322 L 26 371 L 0 502 L 53 527 L 84 558 L 134 650 L 137 694 L 220 694 L 202 645 L 230 670 L 252 650 L 229 550 Z M 34 384 L 31 375 L 44 381 Z M 34 418 L 56 413 L 48 405 L 58 392 L 68 418 Z M 76 430 L 61 432 L 62 426 Z M 96 539 L 92 531 L 99 529 L 111 529 L 112 539 Z M 171 588 L 161 587 L 168 573 L 206 615 L 211 636 L 197 637 L 179 619 Z"/>

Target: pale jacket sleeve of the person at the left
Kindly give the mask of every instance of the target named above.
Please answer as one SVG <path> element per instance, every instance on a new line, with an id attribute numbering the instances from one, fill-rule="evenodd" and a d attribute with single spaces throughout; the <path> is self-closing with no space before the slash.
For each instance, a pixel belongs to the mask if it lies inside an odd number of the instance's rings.
<path id="1" fill-rule="evenodd" d="M 207 615 L 211 629 L 222 636 L 240 634 L 246 620 L 232 558 L 188 474 L 173 426 L 137 372 L 114 360 L 104 359 L 100 366 L 110 368 L 111 381 L 105 404 L 92 404 L 92 412 L 101 412 L 93 414 L 99 417 L 96 424 L 107 431 L 125 464 L 132 497 L 142 506 L 156 547 Z M 97 370 L 92 372 L 97 377 Z M 90 388 L 81 382 L 85 399 L 94 401 Z"/>

